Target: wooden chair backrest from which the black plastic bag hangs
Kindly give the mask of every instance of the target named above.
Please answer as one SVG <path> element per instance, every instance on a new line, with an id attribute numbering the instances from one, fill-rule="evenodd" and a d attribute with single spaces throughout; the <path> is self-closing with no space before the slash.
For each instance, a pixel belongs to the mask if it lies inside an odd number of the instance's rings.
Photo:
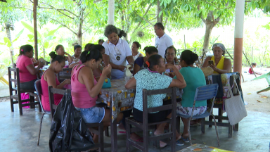
<path id="1" fill-rule="evenodd" d="M 50 100 L 50 108 L 51 108 L 51 118 L 53 118 L 53 114 L 57 108 L 57 105 L 54 104 L 54 98 L 53 98 L 53 94 L 62 94 L 65 95 L 65 92 L 67 92 L 68 94 L 71 93 L 70 89 L 56 89 L 53 88 L 52 86 L 48 87 L 48 91 L 49 91 L 49 100 Z"/>

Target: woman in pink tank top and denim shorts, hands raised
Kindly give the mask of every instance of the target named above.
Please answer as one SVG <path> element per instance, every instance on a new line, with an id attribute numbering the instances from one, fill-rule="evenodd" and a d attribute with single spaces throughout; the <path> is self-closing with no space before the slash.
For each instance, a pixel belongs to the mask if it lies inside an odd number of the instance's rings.
<path id="1" fill-rule="evenodd" d="M 82 65 L 76 65 L 71 75 L 71 96 L 75 108 L 86 123 L 103 122 L 104 127 L 110 125 L 110 110 L 96 106 L 96 99 L 102 89 L 105 77 L 110 73 L 112 67 L 108 65 L 102 71 L 98 82 L 93 71 L 98 68 L 102 61 L 102 54 L 98 49 L 83 51 L 80 57 Z M 117 122 L 122 119 L 122 113 L 118 115 Z M 98 136 L 94 134 L 94 142 Z"/>

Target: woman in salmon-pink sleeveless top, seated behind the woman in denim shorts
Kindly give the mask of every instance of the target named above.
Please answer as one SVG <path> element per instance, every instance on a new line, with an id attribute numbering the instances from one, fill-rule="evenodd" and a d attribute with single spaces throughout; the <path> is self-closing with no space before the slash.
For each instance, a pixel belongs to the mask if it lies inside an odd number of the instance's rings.
<path id="1" fill-rule="evenodd" d="M 41 103 L 43 109 L 46 111 L 51 111 L 48 86 L 52 86 L 56 89 L 63 89 L 65 84 L 70 84 L 69 79 L 60 83 L 56 77 L 56 73 L 62 71 L 63 67 L 65 66 L 65 58 L 63 58 L 63 56 L 57 55 L 55 51 L 52 51 L 49 55 L 52 58 L 51 65 L 48 70 L 43 73 L 40 80 L 42 89 Z M 54 103 L 58 105 L 63 98 L 63 95 L 53 94 L 53 98 Z"/>

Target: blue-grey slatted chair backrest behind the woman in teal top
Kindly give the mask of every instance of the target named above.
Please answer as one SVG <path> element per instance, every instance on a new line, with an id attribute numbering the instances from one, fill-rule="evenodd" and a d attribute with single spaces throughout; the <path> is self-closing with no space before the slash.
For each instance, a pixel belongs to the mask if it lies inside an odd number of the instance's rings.
<path id="1" fill-rule="evenodd" d="M 211 111 L 214 106 L 214 100 L 217 96 L 217 89 L 219 88 L 219 84 L 208 84 L 202 87 L 198 87 L 194 96 L 193 108 L 195 107 L 195 101 L 213 99 Z M 193 113 L 192 113 L 193 114 Z"/>

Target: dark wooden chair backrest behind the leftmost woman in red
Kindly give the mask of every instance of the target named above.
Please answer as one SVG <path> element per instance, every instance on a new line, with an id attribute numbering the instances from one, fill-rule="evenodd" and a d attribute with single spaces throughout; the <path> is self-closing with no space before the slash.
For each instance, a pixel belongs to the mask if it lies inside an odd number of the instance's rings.
<path id="1" fill-rule="evenodd" d="M 9 91 L 10 94 L 12 94 L 12 85 L 14 84 L 14 87 L 18 89 L 18 98 L 20 98 L 20 73 L 19 68 L 11 68 L 8 67 L 8 82 L 9 82 Z M 13 77 L 12 77 L 13 72 Z M 17 94 L 17 91 L 15 91 L 15 94 Z"/>

